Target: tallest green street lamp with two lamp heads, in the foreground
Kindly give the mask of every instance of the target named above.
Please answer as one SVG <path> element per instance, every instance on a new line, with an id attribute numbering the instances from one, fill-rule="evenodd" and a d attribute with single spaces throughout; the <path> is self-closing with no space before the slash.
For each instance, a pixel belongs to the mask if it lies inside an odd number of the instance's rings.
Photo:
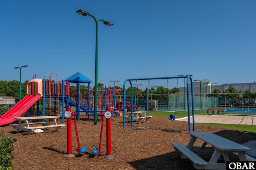
<path id="1" fill-rule="evenodd" d="M 96 47 L 95 47 L 95 86 L 94 86 L 94 111 L 96 111 L 98 109 L 98 103 L 97 103 L 97 98 L 98 98 L 98 22 L 102 21 L 105 25 L 107 26 L 112 26 L 114 25 L 113 23 L 109 22 L 109 21 L 105 21 L 102 19 L 98 19 L 96 20 L 96 18 L 89 14 L 89 12 L 86 12 L 84 10 L 77 10 L 76 11 L 78 14 L 81 14 L 83 16 L 91 16 L 96 23 Z M 97 112 L 94 112 L 94 125 L 97 124 Z"/>

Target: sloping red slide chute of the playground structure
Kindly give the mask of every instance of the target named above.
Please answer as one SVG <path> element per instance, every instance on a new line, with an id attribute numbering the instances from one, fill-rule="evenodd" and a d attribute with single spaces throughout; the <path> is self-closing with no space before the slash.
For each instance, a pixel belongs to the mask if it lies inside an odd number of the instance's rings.
<path id="1" fill-rule="evenodd" d="M 21 115 L 23 115 L 40 99 L 40 97 L 40 95 L 26 95 L 21 101 L 14 105 L 14 107 L 12 107 L 8 112 L 0 117 L 0 126 L 8 125 L 16 121 L 14 117 L 20 117 Z"/>

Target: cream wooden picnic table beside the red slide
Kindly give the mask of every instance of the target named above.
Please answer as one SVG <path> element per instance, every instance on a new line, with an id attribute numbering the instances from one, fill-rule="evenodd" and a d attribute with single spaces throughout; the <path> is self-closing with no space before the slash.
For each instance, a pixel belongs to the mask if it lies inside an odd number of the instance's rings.
<path id="1" fill-rule="evenodd" d="M 55 131 L 58 132 L 58 128 L 62 128 L 66 126 L 65 124 L 57 124 L 57 119 L 60 118 L 59 116 L 32 116 L 32 117 L 15 117 L 14 119 L 17 119 L 19 122 L 18 124 L 12 124 L 9 126 L 13 126 L 13 128 L 16 128 L 16 132 L 19 132 L 19 130 L 24 130 L 27 131 L 28 134 L 32 132 L 34 129 L 41 129 L 44 128 L 50 128 L 53 127 L 55 128 Z M 37 120 L 37 119 L 44 119 L 45 122 L 43 121 L 34 121 L 32 120 Z M 41 126 L 37 126 L 40 125 Z M 31 126 L 31 125 L 36 125 L 36 126 Z"/>

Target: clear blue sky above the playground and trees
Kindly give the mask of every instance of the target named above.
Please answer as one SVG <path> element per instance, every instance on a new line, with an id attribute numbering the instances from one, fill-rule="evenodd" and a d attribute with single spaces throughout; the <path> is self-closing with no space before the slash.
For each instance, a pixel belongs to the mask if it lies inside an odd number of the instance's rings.
<path id="1" fill-rule="evenodd" d="M 58 81 L 80 72 L 94 86 L 96 24 L 98 83 L 193 75 L 222 83 L 256 80 L 255 0 L 5 0 L 0 2 L 0 80 Z M 52 74 L 56 80 L 56 74 Z M 140 89 L 148 81 L 138 81 Z M 136 84 L 134 82 L 133 84 Z M 150 86 L 167 87 L 166 80 Z M 168 80 L 168 88 L 177 80 Z M 184 79 L 178 87 L 184 87 Z M 127 87 L 126 87 L 127 88 Z"/>

